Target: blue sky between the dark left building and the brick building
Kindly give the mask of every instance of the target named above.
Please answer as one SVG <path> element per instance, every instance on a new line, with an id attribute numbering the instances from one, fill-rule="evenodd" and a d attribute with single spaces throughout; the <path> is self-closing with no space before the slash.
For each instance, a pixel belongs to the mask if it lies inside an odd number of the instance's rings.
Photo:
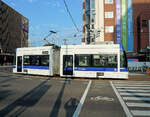
<path id="1" fill-rule="evenodd" d="M 65 0 L 79 28 L 73 25 L 63 0 L 2 0 L 29 20 L 31 46 L 47 44 L 44 38 L 50 30 L 56 31 L 47 38 L 49 42 L 63 45 L 80 44 L 82 38 L 82 0 Z M 75 36 L 76 35 L 76 36 Z"/>

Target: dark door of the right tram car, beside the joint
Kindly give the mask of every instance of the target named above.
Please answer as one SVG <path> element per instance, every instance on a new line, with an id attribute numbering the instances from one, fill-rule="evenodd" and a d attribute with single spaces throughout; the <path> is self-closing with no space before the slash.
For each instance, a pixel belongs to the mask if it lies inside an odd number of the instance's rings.
<path id="1" fill-rule="evenodd" d="M 73 55 L 63 55 L 63 75 L 73 75 Z"/>

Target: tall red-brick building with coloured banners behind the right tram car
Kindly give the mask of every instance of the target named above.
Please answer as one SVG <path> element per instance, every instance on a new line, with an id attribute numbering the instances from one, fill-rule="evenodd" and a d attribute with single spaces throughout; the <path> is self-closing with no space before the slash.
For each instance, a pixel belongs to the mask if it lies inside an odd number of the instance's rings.
<path id="1" fill-rule="evenodd" d="M 127 52 L 150 46 L 150 0 L 83 0 L 83 44 L 111 41 Z"/>

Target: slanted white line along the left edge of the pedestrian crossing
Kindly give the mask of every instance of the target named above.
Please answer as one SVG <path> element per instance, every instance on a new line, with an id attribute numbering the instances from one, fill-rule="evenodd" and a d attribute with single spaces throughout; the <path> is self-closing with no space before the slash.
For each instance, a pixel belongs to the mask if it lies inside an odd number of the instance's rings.
<path id="1" fill-rule="evenodd" d="M 123 110 L 126 114 L 127 117 L 133 117 L 132 114 L 130 113 L 128 107 L 126 106 L 125 102 L 123 101 L 123 99 L 121 98 L 121 96 L 119 95 L 117 89 L 115 88 L 115 86 L 113 85 L 113 83 L 110 81 L 110 84 L 115 92 L 115 94 L 117 95 L 117 98 L 119 99 L 121 106 L 123 107 Z"/>

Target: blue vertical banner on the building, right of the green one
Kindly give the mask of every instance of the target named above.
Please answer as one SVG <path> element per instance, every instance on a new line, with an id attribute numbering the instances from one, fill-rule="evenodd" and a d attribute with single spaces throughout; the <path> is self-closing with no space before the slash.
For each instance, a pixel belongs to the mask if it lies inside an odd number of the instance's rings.
<path id="1" fill-rule="evenodd" d="M 128 9 L 128 51 L 133 51 L 132 0 L 127 0 L 127 9 Z"/>

